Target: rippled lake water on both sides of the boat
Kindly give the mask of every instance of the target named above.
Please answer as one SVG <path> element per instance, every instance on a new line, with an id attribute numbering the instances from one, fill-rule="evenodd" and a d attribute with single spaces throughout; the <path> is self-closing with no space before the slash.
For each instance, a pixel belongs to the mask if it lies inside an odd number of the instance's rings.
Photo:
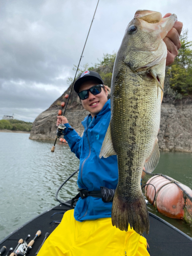
<path id="1" fill-rule="evenodd" d="M 79 165 L 68 145 L 29 140 L 29 134 L 0 133 L 0 241 L 10 232 L 58 204 L 55 193 Z M 192 189 L 192 154 L 161 153 L 155 173 L 168 175 Z M 77 174 L 61 189 L 63 201 L 77 194 Z M 192 237 L 188 224 L 150 211 Z"/>

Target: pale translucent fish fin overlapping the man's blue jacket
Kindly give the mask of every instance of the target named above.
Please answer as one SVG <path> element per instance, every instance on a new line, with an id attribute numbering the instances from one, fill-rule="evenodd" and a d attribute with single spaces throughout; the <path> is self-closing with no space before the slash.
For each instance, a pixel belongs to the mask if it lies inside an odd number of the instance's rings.
<path id="1" fill-rule="evenodd" d="M 103 140 L 103 144 L 101 147 L 101 151 L 99 154 L 99 158 L 101 157 L 110 157 L 113 155 L 117 155 L 113 148 L 112 138 L 111 138 L 111 123 L 109 124 L 108 131 L 106 131 L 106 135 Z"/>

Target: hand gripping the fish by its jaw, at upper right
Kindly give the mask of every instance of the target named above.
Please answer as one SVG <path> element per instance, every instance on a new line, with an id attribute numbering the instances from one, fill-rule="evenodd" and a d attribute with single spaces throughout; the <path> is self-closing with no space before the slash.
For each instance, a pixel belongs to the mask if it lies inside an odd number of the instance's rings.
<path id="1" fill-rule="evenodd" d="M 171 13 L 167 13 L 163 18 L 169 17 Z M 167 47 L 166 66 L 172 64 L 175 57 L 178 55 L 178 50 L 181 48 L 181 42 L 179 36 L 181 34 L 183 24 L 176 22 L 174 27 L 167 33 L 164 38 L 165 45 Z"/>

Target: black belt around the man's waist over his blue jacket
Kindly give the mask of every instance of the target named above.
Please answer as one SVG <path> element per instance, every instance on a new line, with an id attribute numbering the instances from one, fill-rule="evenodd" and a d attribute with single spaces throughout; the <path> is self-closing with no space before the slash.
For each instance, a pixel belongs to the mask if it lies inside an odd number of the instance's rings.
<path id="1" fill-rule="evenodd" d="M 84 188 L 78 188 L 77 190 L 79 191 L 79 193 L 71 200 L 72 208 L 73 208 L 74 202 L 77 201 L 79 198 L 84 199 L 90 196 L 90 197 L 102 198 L 102 201 L 104 203 L 111 203 L 113 202 L 113 198 L 115 195 L 115 189 L 107 188 L 107 187 L 100 187 L 100 190 L 93 190 L 93 191 L 88 191 Z"/>

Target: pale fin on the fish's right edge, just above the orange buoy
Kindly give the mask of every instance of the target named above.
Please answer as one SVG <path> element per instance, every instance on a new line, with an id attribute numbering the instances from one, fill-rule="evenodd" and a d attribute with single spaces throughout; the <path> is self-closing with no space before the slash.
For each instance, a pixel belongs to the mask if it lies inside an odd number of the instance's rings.
<path id="1" fill-rule="evenodd" d="M 147 158 L 144 164 L 146 173 L 152 173 L 155 170 L 159 162 L 159 158 L 160 158 L 160 152 L 159 152 L 158 140 L 156 140 L 153 151 L 151 155 Z"/>

